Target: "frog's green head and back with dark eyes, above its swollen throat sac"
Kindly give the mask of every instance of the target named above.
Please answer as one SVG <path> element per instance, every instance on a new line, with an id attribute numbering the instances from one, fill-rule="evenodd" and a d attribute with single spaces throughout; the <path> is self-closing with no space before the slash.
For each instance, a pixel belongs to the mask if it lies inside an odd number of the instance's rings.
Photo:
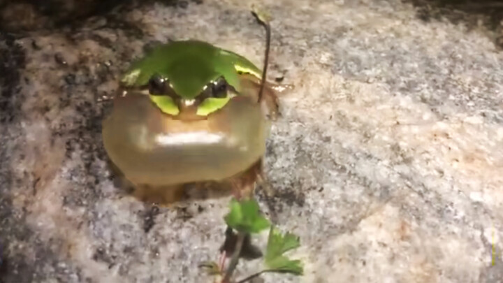
<path id="1" fill-rule="evenodd" d="M 245 57 L 209 43 L 175 41 L 136 61 L 122 83 L 148 91 L 163 113 L 177 116 L 185 110 L 204 117 L 241 93 L 241 74 L 260 78 L 261 70 Z"/>

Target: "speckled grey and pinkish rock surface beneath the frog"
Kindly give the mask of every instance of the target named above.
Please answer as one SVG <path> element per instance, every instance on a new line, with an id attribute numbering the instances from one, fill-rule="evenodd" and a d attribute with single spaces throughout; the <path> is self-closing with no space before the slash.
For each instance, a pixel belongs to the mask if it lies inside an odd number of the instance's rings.
<path id="1" fill-rule="evenodd" d="M 210 282 L 197 265 L 217 258 L 227 199 L 170 210 L 124 194 L 96 99 L 155 41 L 197 38 L 260 64 L 248 5 L 148 3 L 71 32 L 0 35 L 0 281 Z M 296 88 L 268 145 L 277 197 L 262 204 L 300 235 L 306 273 L 265 282 L 503 282 L 493 41 L 400 1 L 263 5 L 271 78 Z"/>

